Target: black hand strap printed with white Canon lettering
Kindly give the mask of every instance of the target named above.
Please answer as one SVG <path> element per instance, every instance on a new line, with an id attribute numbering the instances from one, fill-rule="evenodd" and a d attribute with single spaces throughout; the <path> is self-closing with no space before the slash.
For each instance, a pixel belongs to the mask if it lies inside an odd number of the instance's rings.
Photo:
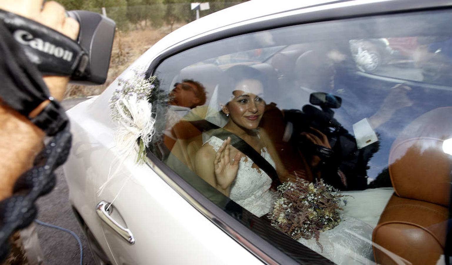
<path id="1" fill-rule="evenodd" d="M 43 75 L 81 76 L 89 58 L 71 38 L 31 19 L 0 9 L 0 21 Z"/>

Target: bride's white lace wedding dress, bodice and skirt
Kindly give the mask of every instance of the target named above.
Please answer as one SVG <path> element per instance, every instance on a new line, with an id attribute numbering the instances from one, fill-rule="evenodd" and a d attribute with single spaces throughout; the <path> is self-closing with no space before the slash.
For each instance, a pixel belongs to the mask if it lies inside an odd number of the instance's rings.
<path id="1" fill-rule="evenodd" d="M 223 140 L 212 136 L 207 143 L 218 151 Z M 275 167 L 265 147 L 261 150 L 261 156 Z M 276 194 L 269 190 L 272 183 L 270 177 L 263 170 L 252 168 L 252 165 L 250 158 L 240 159 L 237 177 L 232 183 L 229 197 L 261 217 L 271 211 Z M 320 233 L 321 247 L 315 238 L 301 238 L 298 241 L 336 264 L 375 264 L 372 231 L 393 191 L 391 188 L 385 188 L 342 192 L 350 196 L 347 198 L 349 203 L 340 213 L 339 225 Z"/>

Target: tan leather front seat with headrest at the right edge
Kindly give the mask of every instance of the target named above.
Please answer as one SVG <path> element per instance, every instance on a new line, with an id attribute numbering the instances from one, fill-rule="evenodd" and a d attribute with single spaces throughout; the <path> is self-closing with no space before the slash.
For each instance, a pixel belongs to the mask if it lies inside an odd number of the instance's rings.
<path id="1" fill-rule="evenodd" d="M 452 107 L 446 107 L 416 118 L 393 143 L 395 193 L 372 235 L 378 264 L 436 264 L 444 253 L 452 164 L 443 141 L 451 137 Z"/>

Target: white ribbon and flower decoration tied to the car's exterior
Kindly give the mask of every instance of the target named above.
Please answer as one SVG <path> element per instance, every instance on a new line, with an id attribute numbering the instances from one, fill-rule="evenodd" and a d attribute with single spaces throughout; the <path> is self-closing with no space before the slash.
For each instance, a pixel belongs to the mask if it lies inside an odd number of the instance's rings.
<path id="1" fill-rule="evenodd" d="M 146 79 L 144 72 L 132 71 L 131 78 L 119 79 L 118 89 L 110 99 L 110 114 L 118 122 L 116 146 L 122 156 L 132 154 L 138 141 L 137 163 L 142 163 L 155 131 L 155 114 L 150 102 L 155 76 Z"/>

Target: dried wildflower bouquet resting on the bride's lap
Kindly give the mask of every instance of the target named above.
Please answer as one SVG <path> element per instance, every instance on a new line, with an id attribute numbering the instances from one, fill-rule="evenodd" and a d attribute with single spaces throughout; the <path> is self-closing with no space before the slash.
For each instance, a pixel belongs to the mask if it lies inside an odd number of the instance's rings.
<path id="1" fill-rule="evenodd" d="M 317 183 L 297 178 L 278 186 L 278 199 L 268 218 L 272 225 L 297 240 L 319 240 L 320 232 L 340 222 L 340 205 L 347 201 L 332 186 L 320 180 Z"/>

